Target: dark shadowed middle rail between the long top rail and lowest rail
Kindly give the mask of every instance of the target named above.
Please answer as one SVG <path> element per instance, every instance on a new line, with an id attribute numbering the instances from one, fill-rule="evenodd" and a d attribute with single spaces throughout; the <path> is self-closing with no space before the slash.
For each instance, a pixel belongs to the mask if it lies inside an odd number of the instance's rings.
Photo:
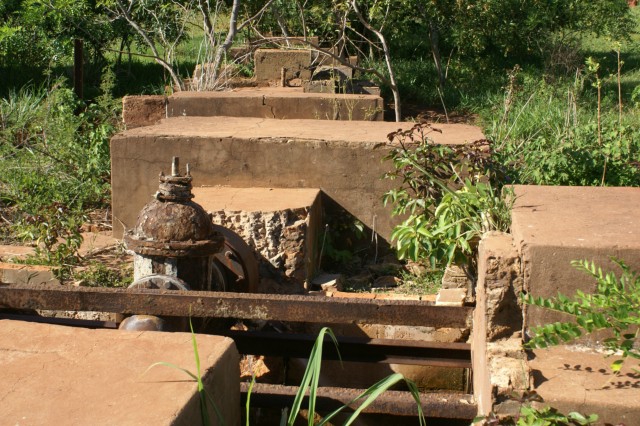
<path id="1" fill-rule="evenodd" d="M 231 337 L 241 354 L 288 358 L 308 358 L 317 338 L 317 336 L 310 334 L 232 330 L 216 334 Z M 468 343 L 344 336 L 336 336 L 336 339 L 338 350 L 336 351 L 335 345 L 327 339 L 322 351 L 322 359 L 471 368 L 471 345 Z"/>

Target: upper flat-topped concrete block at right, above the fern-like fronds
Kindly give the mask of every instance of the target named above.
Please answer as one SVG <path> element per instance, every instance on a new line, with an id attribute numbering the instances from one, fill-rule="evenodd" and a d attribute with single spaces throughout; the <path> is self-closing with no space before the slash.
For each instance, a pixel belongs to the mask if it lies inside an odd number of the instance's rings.
<path id="1" fill-rule="evenodd" d="M 534 296 L 593 292 L 595 280 L 573 268 L 572 260 L 611 270 L 613 256 L 640 270 L 640 188 L 516 186 L 515 195 L 511 228 L 524 289 Z M 528 307 L 525 326 L 559 319 Z"/>

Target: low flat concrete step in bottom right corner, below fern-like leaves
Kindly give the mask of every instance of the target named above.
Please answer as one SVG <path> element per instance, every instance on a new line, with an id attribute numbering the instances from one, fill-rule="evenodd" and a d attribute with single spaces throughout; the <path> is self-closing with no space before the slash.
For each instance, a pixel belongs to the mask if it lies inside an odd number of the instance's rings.
<path id="1" fill-rule="evenodd" d="M 629 359 L 614 376 L 614 359 L 586 348 L 560 346 L 534 351 L 529 366 L 546 404 L 563 413 L 597 414 L 598 424 L 640 426 L 640 374 L 632 371 L 637 360 Z"/>

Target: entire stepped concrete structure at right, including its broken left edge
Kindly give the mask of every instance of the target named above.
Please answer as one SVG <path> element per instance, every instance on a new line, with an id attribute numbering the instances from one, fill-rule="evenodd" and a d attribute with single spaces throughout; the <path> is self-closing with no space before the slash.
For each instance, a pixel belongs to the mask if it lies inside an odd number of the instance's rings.
<path id="1" fill-rule="evenodd" d="M 640 270 L 640 189 L 516 186 L 512 235 L 491 233 L 480 242 L 472 336 L 474 392 L 480 414 L 514 413 L 513 391 L 535 389 L 562 412 L 595 413 L 601 422 L 640 425 L 640 375 L 628 361 L 611 375 L 614 358 L 587 347 L 522 351 L 521 329 L 567 320 L 520 306 L 519 295 L 551 297 L 592 292 L 595 280 L 571 260 L 609 257 Z M 524 315 L 523 315 L 524 311 Z M 583 339 L 594 345 L 602 335 Z"/>

